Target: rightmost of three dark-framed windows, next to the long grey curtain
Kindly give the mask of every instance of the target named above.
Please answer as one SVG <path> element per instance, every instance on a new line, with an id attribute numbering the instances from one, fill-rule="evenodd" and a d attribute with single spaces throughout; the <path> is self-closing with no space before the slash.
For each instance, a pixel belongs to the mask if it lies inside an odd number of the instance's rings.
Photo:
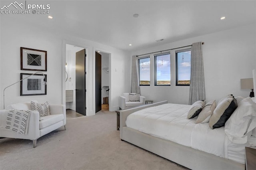
<path id="1" fill-rule="evenodd" d="M 190 85 L 191 49 L 176 51 L 176 86 Z"/>

